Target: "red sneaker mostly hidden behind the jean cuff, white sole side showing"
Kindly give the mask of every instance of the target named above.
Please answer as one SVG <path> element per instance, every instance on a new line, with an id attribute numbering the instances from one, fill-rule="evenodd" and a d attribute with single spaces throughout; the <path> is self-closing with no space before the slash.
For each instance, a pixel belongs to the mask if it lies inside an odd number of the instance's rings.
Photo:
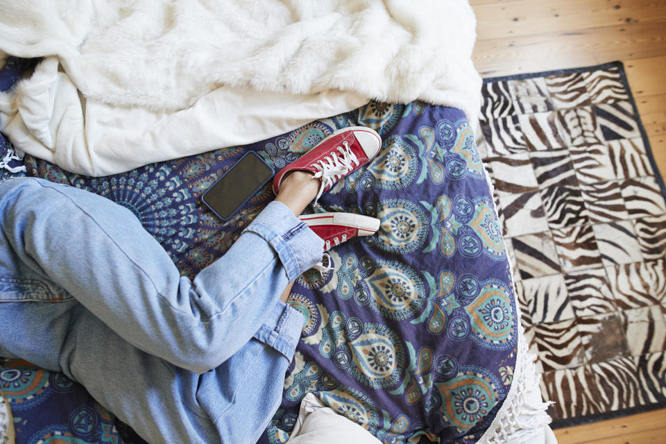
<path id="1" fill-rule="evenodd" d="M 298 219 L 324 239 L 324 251 L 352 237 L 372 236 L 379 230 L 379 219 L 354 213 L 306 214 Z"/>

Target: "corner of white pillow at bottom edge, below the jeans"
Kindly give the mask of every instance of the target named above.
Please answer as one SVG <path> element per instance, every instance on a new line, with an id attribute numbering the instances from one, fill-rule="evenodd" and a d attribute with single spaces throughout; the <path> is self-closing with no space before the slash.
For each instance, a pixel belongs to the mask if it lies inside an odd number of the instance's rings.
<path id="1" fill-rule="evenodd" d="M 382 444 L 366 429 L 326 407 L 314 393 L 300 402 L 300 411 L 287 444 Z"/>

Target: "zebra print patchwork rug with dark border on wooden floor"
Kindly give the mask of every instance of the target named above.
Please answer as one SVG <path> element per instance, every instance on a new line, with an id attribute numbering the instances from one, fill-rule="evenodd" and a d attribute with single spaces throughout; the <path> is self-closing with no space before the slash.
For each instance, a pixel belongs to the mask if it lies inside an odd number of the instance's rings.
<path id="1" fill-rule="evenodd" d="M 666 188 L 622 64 L 483 92 L 479 151 L 554 427 L 666 407 Z"/>

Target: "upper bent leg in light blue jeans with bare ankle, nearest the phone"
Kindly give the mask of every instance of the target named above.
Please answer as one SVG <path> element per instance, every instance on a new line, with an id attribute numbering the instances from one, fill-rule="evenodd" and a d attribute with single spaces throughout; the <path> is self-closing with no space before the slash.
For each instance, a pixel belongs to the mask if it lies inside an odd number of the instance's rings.
<path id="1" fill-rule="evenodd" d="M 270 323 L 289 314 L 289 308 L 278 299 L 323 251 L 321 239 L 295 216 L 314 198 L 317 184 L 312 182 L 311 176 L 287 178 L 282 188 L 293 196 L 284 203 L 284 196 L 278 196 L 228 253 L 190 281 L 123 207 L 44 180 L 9 180 L 0 185 L 0 254 L 6 265 L 19 264 L 19 273 L 54 282 L 56 292 L 74 296 L 140 350 L 201 373 L 253 336 L 280 344 Z M 87 321 L 81 319 L 71 322 Z M 35 364 L 53 364 L 58 341 L 65 340 L 70 327 L 63 326 L 59 335 L 52 331 L 42 343 L 2 332 L 1 343 L 12 355 L 28 359 L 29 353 Z"/>

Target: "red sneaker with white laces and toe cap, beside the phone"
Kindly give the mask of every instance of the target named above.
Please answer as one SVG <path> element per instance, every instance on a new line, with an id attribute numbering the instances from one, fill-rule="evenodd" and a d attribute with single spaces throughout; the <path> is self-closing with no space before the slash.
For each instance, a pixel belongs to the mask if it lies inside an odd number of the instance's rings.
<path id="1" fill-rule="evenodd" d="M 310 171 L 315 178 L 321 179 L 321 187 L 314 200 L 316 202 L 338 180 L 370 162 L 381 147 L 382 137 L 365 126 L 337 130 L 298 160 L 278 171 L 273 179 L 273 192 L 278 194 L 282 177 L 289 171 Z"/>

